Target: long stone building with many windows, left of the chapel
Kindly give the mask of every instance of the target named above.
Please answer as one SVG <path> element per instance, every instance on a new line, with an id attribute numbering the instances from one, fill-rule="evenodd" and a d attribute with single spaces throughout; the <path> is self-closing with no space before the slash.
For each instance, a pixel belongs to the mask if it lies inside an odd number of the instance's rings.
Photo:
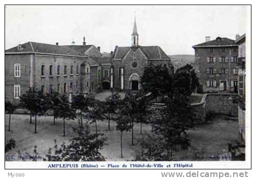
<path id="1" fill-rule="evenodd" d="M 44 93 L 89 93 L 100 87 L 99 47 L 27 42 L 5 51 L 5 98 L 17 102 L 29 87 Z"/>

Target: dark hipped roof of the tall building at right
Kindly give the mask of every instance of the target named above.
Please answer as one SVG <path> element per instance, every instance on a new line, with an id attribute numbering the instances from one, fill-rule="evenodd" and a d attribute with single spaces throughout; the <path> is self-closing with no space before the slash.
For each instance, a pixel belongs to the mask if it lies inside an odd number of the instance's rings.
<path id="1" fill-rule="evenodd" d="M 229 39 L 229 38 L 222 38 L 222 37 L 217 37 L 215 40 L 210 40 L 210 41 L 206 41 L 203 43 L 199 43 L 195 46 L 193 46 L 193 48 L 198 48 L 198 47 L 222 47 L 222 46 L 236 46 L 236 42 L 235 40 Z"/>

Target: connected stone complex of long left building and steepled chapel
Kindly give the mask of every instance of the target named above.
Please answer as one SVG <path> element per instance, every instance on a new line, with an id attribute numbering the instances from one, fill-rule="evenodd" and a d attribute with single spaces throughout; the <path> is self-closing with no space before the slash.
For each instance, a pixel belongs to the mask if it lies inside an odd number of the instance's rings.
<path id="1" fill-rule="evenodd" d="M 17 102 L 29 87 L 44 93 L 79 94 L 99 88 L 138 90 L 144 67 L 149 63 L 166 65 L 171 73 L 170 58 L 158 46 L 138 44 L 136 22 L 131 47 L 118 47 L 102 56 L 100 47 L 58 43 L 27 42 L 5 51 L 5 96 Z"/>

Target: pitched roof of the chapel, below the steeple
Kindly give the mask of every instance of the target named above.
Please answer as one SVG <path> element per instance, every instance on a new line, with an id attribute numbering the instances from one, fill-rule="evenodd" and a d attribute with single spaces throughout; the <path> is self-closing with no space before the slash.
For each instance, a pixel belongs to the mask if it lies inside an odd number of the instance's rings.
<path id="1" fill-rule="evenodd" d="M 129 50 L 132 48 L 134 47 L 117 46 L 114 51 L 114 59 L 123 59 L 125 55 L 129 52 Z M 148 59 L 170 60 L 170 58 L 164 53 L 164 51 L 159 46 L 138 46 L 138 49 L 140 49 Z"/>

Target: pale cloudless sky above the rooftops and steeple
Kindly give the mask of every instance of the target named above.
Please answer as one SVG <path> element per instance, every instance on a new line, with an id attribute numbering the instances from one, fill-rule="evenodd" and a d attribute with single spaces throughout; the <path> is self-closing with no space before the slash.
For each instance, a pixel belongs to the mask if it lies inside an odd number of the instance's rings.
<path id="1" fill-rule="evenodd" d="M 5 49 L 28 41 L 82 45 L 114 51 L 131 46 L 136 16 L 140 46 L 167 55 L 194 55 L 205 36 L 235 39 L 248 31 L 248 6 L 6 6 Z"/>

